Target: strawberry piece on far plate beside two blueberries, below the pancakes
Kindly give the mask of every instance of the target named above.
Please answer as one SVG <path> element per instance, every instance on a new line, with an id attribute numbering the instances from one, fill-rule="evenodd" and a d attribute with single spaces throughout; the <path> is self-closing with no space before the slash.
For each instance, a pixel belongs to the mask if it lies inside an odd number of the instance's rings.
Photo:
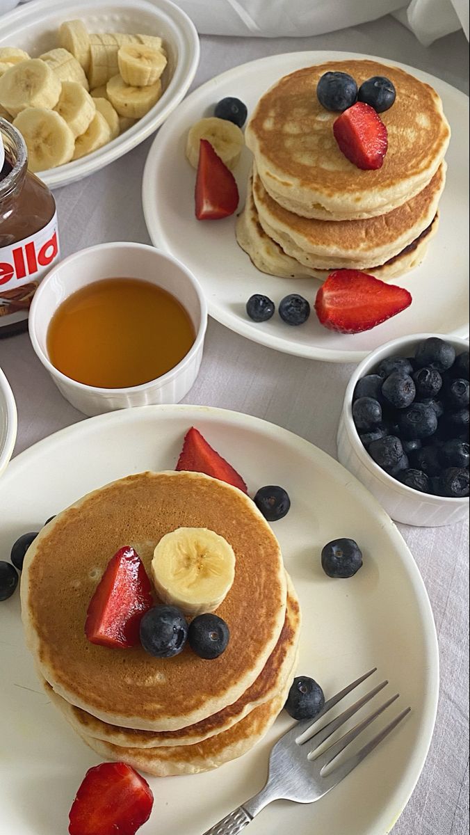
<path id="1" fill-rule="evenodd" d="M 331 331 L 361 333 L 396 316 L 411 303 L 411 294 L 402 287 L 360 270 L 336 270 L 317 292 L 315 310 L 321 324 Z"/>

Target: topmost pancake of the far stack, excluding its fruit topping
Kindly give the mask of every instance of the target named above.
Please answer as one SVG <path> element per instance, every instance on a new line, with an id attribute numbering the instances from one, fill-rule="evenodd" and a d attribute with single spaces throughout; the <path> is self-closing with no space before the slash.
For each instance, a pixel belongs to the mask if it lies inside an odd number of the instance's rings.
<path id="1" fill-rule="evenodd" d="M 380 114 L 388 150 L 381 169 L 361 170 L 333 135 L 340 115 L 323 108 L 316 84 L 328 71 L 349 73 L 359 87 L 385 75 L 397 99 Z M 296 70 L 260 99 L 245 130 L 265 190 L 297 215 L 353 220 L 382 215 L 417 195 L 436 173 L 450 139 L 442 102 L 428 84 L 375 61 L 332 61 Z"/>

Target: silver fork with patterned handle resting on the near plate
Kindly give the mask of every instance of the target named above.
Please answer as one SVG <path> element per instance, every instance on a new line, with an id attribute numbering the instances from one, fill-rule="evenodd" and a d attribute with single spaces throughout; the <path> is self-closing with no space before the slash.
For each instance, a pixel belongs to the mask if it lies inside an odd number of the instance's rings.
<path id="1" fill-rule="evenodd" d="M 341 725 L 350 719 L 351 716 L 354 716 L 383 687 L 387 686 L 388 681 L 382 681 L 381 684 L 366 693 L 366 696 L 362 696 L 354 705 L 348 707 L 340 716 L 336 716 L 335 719 L 332 719 L 327 725 L 323 726 L 320 731 L 316 731 L 315 726 L 322 716 L 325 716 L 332 707 L 337 705 L 338 701 L 341 701 L 344 696 L 351 693 L 362 681 L 366 681 L 376 671 L 377 667 L 374 667 L 365 676 L 361 676 L 361 678 L 358 678 L 352 684 L 345 687 L 344 690 L 341 690 L 340 693 L 337 693 L 336 696 L 332 696 L 329 701 L 326 701 L 325 706 L 313 722 L 310 719 L 296 722 L 296 725 L 290 731 L 287 731 L 284 736 L 281 736 L 280 740 L 275 743 L 275 746 L 270 752 L 269 775 L 265 787 L 255 797 L 251 797 L 250 800 L 247 800 L 238 809 L 230 812 L 221 821 L 215 823 L 215 826 L 208 829 L 204 835 L 238 835 L 238 832 L 245 829 L 255 815 L 273 800 L 284 799 L 293 800 L 297 803 L 312 803 L 315 800 L 320 800 L 328 792 L 331 792 L 332 788 L 337 786 L 344 777 L 347 777 L 353 768 L 356 768 L 364 757 L 370 754 L 397 727 L 411 711 L 411 708 L 407 707 L 383 731 L 380 731 L 377 736 L 374 736 L 371 741 L 367 742 L 361 748 L 361 751 L 358 751 L 353 757 L 350 757 L 346 762 L 341 763 L 341 765 L 335 767 L 327 774 L 324 774 L 326 767 L 374 719 L 377 719 L 377 716 L 380 716 L 383 711 L 387 710 L 387 707 L 392 705 L 392 702 L 398 698 L 399 694 L 397 693 L 396 696 L 392 696 L 391 699 L 388 699 L 380 707 L 377 707 L 377 710 L 371 713 L 370 716 L 366 716 L 366 719 L 358 722 L 351 731 L 347 731 L 344 736 L 341 736 L 341 739 L 326 748 L 320 755 L 311 758 L 309 755 L 314 754 L 323 742 L 335 733 Z M 310 745 L 306 745 L 308 741 L 311 742 Z"/>

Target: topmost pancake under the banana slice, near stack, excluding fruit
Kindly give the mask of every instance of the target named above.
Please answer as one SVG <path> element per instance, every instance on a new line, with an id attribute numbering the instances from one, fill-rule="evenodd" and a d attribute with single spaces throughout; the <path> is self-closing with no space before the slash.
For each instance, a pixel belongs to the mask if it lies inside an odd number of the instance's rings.
<path id="1" fill-rule="evenodd" d="M 186 646 L 160 659 L 91 644 L 86 612 L 109 559 L 134 545 L 149 573 L 155 544 L 182 526 L 214 530 L 235 551 L 235 580 L 217 610 L 230 628 L 223 655 L 207 661 Z M 60 696 L 112 724 L 172 731 L 255 681 L 285 620 L 286 575 L 270 526 L 240 490 L 201 473 L 139 473 L 88 493 L 43 528 L 21 596 L 28 645 Z"/>

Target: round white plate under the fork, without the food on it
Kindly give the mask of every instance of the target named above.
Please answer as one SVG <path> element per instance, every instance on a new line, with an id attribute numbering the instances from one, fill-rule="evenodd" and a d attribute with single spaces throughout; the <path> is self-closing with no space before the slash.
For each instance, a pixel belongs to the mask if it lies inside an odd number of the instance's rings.
<path id="1" fill-rule="evenodd" d="M 10 463 L 0 481 L 0 549 L 8 554 L 20 534 L 38 529 L 88 490 L 147 468 L 174 467 L 192 425 L 240 470 L 251 494 L 280 483 L 291 495 L 290 513 L 273 529 L 301 599 L 299 671 L 316 677 L 329 696 L 377 665 L 371 681 L 387 677 L 384 693 L 402 694 L 387 715 L 412 706 L 402 726 L 331 794 L 313 807 L 278 802 L 250 831 L 384 835 L 402 812 L 431 741 L 437 639 L 421 575 L 397 528 L 332 458 L 285 429 L 222 409 L 148 406 L 93 417 Z M 351 536 L 364 552 L 365 564 L 350 580 L 326 577 L 319 563 L 321 547 L 337 536 Z M 0 763 L 3 827 L 14 835 L 58 835 L 66 831 L 85 770 L 99 758 L 38 685 L 23 642 L 18 593 L 1 606 L 0 716 L 8 751 Z M 260 789 L 270 746 L 290 723 L 283 715 L 253 751 L 215 772 L 151 779 L 154 812 L 142 835 L 205 832 Z"/>

